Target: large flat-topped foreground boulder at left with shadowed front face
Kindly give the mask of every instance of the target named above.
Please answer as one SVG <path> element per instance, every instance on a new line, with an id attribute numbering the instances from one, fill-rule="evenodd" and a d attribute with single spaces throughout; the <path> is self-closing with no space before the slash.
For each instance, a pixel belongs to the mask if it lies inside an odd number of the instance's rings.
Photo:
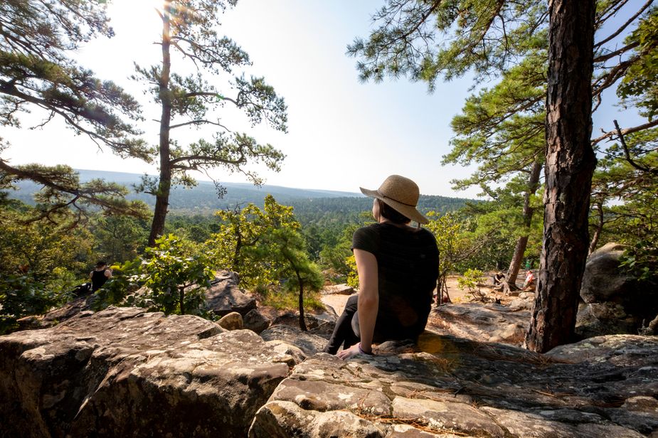
<path id="1" fill-rule="evenodd" d="M 0 436 L 244 437 L 291 352 L 197 316 L 83 311 L 0 336 Z"/>

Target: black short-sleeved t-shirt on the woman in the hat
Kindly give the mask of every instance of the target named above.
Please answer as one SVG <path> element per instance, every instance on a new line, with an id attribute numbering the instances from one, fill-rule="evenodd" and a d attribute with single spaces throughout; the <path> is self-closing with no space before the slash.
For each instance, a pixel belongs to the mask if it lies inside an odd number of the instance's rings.
<path id="1" fill-rule="evenodd" d="M 377 331 L 390 331 L 391 338 L 400 329 L 421 333 L 439 275 L 434 235 L 424 228 L 376 223 L 356 230 L 352 249 L 371 252 L 377 259 Z"/>

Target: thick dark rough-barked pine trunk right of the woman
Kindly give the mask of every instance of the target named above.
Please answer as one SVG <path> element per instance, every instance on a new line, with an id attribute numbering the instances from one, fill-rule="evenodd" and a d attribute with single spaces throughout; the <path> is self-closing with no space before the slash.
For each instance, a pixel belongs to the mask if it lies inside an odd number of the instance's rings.
<path id="1" fill-rule="evenodd" d="M 590 144 L 595 0 L 551 0 L 548 9 L 543 247 L 525 342 L 542 353 L 573 340 L 596 164 Z"/>

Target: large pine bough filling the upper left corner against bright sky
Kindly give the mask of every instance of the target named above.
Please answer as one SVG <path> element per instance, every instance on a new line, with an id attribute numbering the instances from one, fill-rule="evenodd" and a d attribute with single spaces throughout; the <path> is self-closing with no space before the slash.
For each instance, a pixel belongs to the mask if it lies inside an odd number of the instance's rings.
<path id="1" fill-rule="evenodd" d="M 148 156 L 139 105 L 113 82 L 95 78 L 68 53 L 97 35 L 110 37 L 104 0 L 25 0 L 0 4 L 0 124 L 41 107 L 76 133 L 105 142 L 117 154 Z"/>

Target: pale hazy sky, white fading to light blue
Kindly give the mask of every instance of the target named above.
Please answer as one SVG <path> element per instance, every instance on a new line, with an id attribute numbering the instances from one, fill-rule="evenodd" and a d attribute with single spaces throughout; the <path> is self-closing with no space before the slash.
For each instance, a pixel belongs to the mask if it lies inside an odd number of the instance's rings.
<path id="1" fill-rule="evenodd" d="M 97 76 L 114 80 L 144 100 L 145 138 L 153 144 L 159 110 L 147 103 L 143 85 L 128 76 L 134 72 L 134 62 L 159 63 L 159 46 L 153 42 L 160 33 L 161 22 L 154 10 L 160 4 L 112 1 L 116 36 L 92 41 L 78 54 L 80 63 Z M 438 83 L 431 95 L 424 83 L 404 78 L 362 84 L 356 60 L 345 54 L 354 37 L 367 36 L 371 14 L 382 4 L 382 0 L 240 0 L 226 12 L 221 31 L 249 53 L 253 66 L 247 75 L 265 76 L 285 97 L 289 132 L 275 132 L 265 125 L 251 128 L 228 112 L 221 114 L 222 121 L 287 155 L 280 173 L 260 171 L 267 184 L 354 192 L 359 186 L 377 188 L 386 176 L 398 173 L 415 180 L 421 193 L 473 198 L 477 188 L 456 192 L 450 187 L 452 178 L 468 176 L 469 169 L 440 165 L 442 155 L 450 150 L 450 120 L 469 95 L 469 78 Z M 172 70 L 179 65 L 174 60 Z M 218 83 L 223 82 L 218 79 Z M 25 117 L 23 128 L 41 117 L 37 113 Z M 595 114 L 595 132 L 602 127 L 612 129 L 614 118 L 622 126 L 637 120 L 630 112 L 605 107 Z M 203 132 L 172 135 L 183 142 L 203 137 Z M 11 141 L 11 149 L 3 154 L 11 164 L 36 161 L 75 169 L 156 173 L 155 166 L 113 156 L 57 122 L 32 131 L 4 128 L 1 137 Z M 205 137 L 209 138 L 207 132 Z M 219 169 L 212 176 L 220 181 L 245 181 L 240 174 L 228 175 Z"/>

